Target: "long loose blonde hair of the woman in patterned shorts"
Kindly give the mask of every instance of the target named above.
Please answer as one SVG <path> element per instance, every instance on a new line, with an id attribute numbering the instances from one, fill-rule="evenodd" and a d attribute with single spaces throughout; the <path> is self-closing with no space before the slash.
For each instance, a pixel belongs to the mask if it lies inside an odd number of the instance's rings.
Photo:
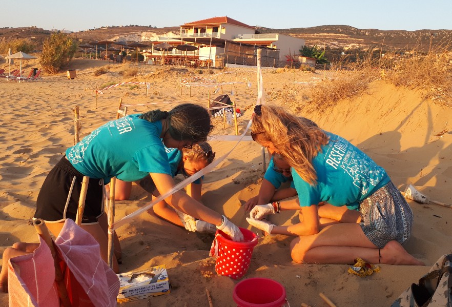
<path id="1" fill-rule="evenodd" d="M 285 111 L 282 107 L 263 105 L 256 114 L 251 129 L 257 142 L 272 142 L 283 159 L 310 183 L 317 184 L 312 159 L 328 144 L 330 138 L 319 127 Z M 259 112 L 258 112 L 259 113 Z"/>

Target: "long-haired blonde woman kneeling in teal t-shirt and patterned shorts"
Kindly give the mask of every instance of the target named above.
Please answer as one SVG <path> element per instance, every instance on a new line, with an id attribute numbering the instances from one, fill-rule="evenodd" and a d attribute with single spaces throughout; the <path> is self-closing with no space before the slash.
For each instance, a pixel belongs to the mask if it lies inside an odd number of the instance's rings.
<path id="1" fill-rule="evenodd" d="M 412 230 L 413 213 L 385 170 L 342 137 L 306 125 L 281 107 L 256 106 L 252 137 L 279 153 L 292 167 L 297 203 L 255 206 L 248 222 L 272 234 L 297 236 L 291 243 L 296 262 L 423 265 L 401 244 Z M 317 204 L 356 207 L 359 223 L 320 228 Z M 300 209 L 303 221 L 275 226 L 258 220 L 280 210 Z"/>

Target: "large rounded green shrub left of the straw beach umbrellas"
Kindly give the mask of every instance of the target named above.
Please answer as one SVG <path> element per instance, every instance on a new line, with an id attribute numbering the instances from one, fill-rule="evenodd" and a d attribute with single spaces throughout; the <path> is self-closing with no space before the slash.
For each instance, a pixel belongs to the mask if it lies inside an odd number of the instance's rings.
<path id="1" fill-rule="evenodd" d="M 45 72 L 50 74 L 58 73 L 61 68 L 69 64 L 76 50 L 77 44 L 69 35 L 63 32 L 53 32 L 44 41 L 39 63 Z"/>

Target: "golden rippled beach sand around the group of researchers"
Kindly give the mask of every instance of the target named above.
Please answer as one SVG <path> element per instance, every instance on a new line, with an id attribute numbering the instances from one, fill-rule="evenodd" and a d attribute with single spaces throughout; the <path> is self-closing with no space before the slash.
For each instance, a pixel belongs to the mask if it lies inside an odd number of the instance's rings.
<path id="1" fill-rule="evenodd" d="M 36 62 L 23 63 L 26 74 Z M 5 65 L 3 65 L 4 67 Z M 108 73 L 94 76 L 104 66 Z M 118 72 L 128 64 L 109 64 L 101 60 L 75 59 L 71 69 L 77 77 L 68 79 L 66 72 L 46 76 L 34 83 L 0 80 L 2 116 L 0 121 L 0 254 L 14 242 L 36 242 L 37 235 L 27 224 L 33 216 L 35 201 L 47 173 L 74 139 L 74 106 L 80 107 L 80 136 L 89 134 L 104 122 L 115 118 L 119 98 L 130 104 L 128 113 L 140 113 L 159 107 L 168 110 L 182 101 L 207 104 L 208 89 L 186 88 L 182 95 L 177 86 L 177 73 L 183 69 L 161 72 L 160 67 L 140 66 L 141 75 L 124 78 Z M 136 67 L 136 66 L 131 66 Z M 215 71 L 217 73 L 217 71 Z M 102 84 L 121 81 L 150 83 L 149 97 L 143 86 L 129 85 L 103 91 L 95 101 L 94 89 Z M 200 75 L 205 76 L 205 75 Z M 297 72 L 296 80 L 313 81 L 321 74 Z M 224 75 L 220 81 L 244 81 L 247 74 Z M 256 101 L 256 73 L 249 72 L 252 87 L 223 86 L 222 92 L 242 110 L 239 130 L 248 123 Z M 292 87 L 293 73 L 264 73 L 263 86 L 267 103 L 283 104 L 272 93 Z M 296 85 L 298 95 L 306 85 Z M 305 89 L 304 91 L 306 91 Z M 153 103 L 154 105 L 149 105 Z M 146 106 L 136 106 L 147 104 Z M 367 93 L 327 110 L 306 114 L 325 130 L 339 134 L 358 146 L 384 167 L 395 185 L 403 190 L 412 183 L 420 192 L 444 203 L 452 203 L 452 110 L 421 98 L 420 93 L 396 88 L 384 80 L 374 81 Z M 233 135 L 233 126 L 214 119 L 214 135 Z M 231 141 L 212 141 L 217 157 L 234 145 Z M 225 214 L 240 227 L 249 228 L 241 207 L 259 190 L 262 177 L 260 147 L 243 141 L 206 175 L 202 201 Z M 179 179 L 180 180 L 180 179 Z M 133 186 L 131 200 L 116 202 L 116 220 L 134 212 L 150 198 Z M 381 272 L 360 278 L 347 273 L 347 265 L 316 265 L 293 263 L 289 254 L 291 237 L 266 236 L 254 249 L 249 277 L 268 277 L 279 281 L 287 291 L 292 306 L 302 302 L 326 306 L 319 293 L 325 294 L 337 306 L 388 306 L 412 282 L 416 282 L 443 254 L 451 252 L 452 209 L 435 204 L 408 201 L 415 215 L 413 235 L 406 250 L 426 263 L 421 266 L 381 265 Z M 295 213 L 275 215 L 278 224 L 296 222 Z M 255 229 L 253 229 L 256 231 Z M 121 272 L 165 264 L 172 284 L 171 293 L 147 300 L 123 303 L 127 306 L 208 306 L 205 288 L 210 290 L 214 306 L 233 306 L 232 291 L 238 282 L 217 276 L 215 259 L 209 257 L 212 236 L 190 233 L 148 213 L 141 214 L 117 230 L 123 251 Z M 359 255 L 357 255 L 359 256 Z M 8 305 L 8 295 L 0 294 L 0 304 Z"/>

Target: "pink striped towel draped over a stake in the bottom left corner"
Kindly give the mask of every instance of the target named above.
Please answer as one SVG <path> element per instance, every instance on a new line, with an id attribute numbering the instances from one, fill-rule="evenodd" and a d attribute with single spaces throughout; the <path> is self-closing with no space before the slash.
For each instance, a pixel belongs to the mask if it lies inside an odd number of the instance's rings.
<path id="1" fill-rule="evenodd" d="M 10 306 L 59 306 L 53 259 L 45 242 L 40 243 L 33 254 L 10 260 Z M 96 240 L 68 219 L 55 244 L 66 263 L 61 267 L 66 266 L 65 283 L 72 305 L 116 306 L 119 279 L 101 259 Z"/>

